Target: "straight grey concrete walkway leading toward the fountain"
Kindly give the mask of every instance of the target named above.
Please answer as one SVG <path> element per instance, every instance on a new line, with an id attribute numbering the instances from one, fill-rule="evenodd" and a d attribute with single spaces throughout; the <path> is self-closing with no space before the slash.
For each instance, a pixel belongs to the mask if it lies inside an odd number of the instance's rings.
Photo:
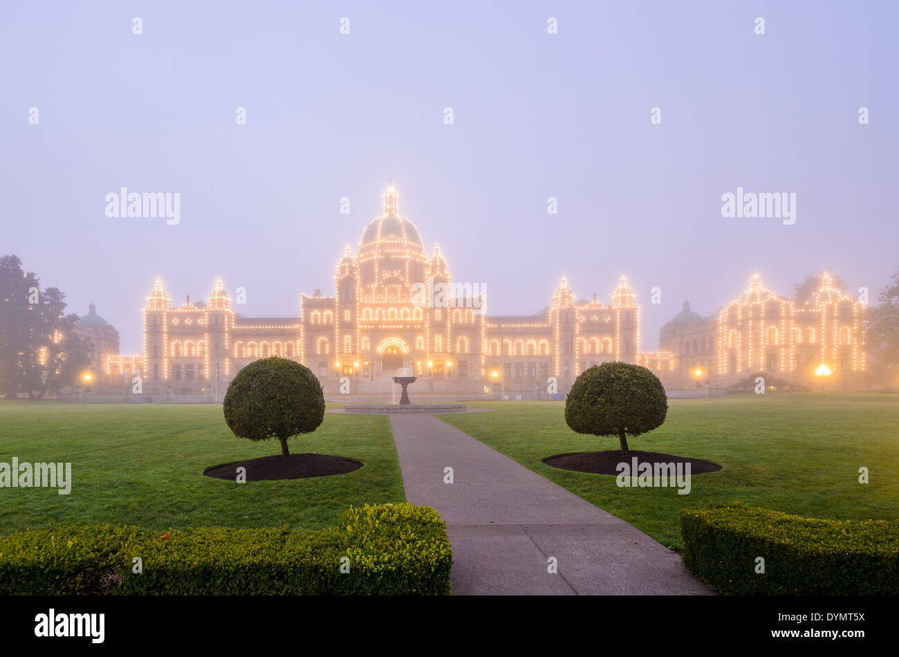
<path id="1" fill-rule="evenodd" d="M 709 593 L 677 553 L 466 433 L 432 415 L 390 422 L 406 499 L 447 522 L 454 594 Z"/>

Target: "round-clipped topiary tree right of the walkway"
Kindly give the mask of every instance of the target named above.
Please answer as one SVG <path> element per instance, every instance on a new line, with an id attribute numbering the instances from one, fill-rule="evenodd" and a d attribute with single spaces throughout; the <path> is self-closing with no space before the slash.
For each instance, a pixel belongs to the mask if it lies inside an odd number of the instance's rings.
<path id="1" fill-rule="evenodd" d="M 628 436 L 662 426 L 668 395 L 649 369 L 624 362 L 602 363 L 581 373 L 565 401 L 565 422 L 578 433 L 618 436 L 628 451 Z"/>

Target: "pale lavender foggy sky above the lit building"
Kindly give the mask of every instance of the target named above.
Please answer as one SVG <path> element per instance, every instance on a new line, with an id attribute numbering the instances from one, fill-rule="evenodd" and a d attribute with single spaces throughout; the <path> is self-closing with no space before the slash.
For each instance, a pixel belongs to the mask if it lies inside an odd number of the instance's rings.
<path id="1" fill-rule="evenodd" d="M 899 266 L 895 3 L 185 4 L 0 9 L 0 253 L 71 312 L 93 300 L 123 353 L 156 277 L 179 305 L 221 276 L 244 315 L 333 294 L 388 179 L 488 315 L 549 305 L 563 274 L 610 303 L 624 273 L 646 351 L 753 272 L 874 300 Z M 122 186 L 180 192 L 181 223 L 107 218 Z M 796 223 L 723 218 L 737 187 L 796 193 Z"/>

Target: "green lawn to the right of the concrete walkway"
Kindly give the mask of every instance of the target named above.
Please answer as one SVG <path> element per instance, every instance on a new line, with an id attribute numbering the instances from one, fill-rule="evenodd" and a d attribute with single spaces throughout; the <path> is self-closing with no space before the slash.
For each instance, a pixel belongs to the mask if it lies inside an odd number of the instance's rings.
<path id="1" fill-rule="evenodd" d="M 574 433 L 564 402 L 482 402 L 498 413 L 439 415 L 572 493 L 681 548 L 681 508 L 740 500 L 832 519 L 899 518 L 899 395 L 733 395 L 671 400 L 659 429 L 629 447 L 714 461 L 722 470 L 676 488 L 619 488 L 614 475 L 546 466 L 544 457 L 618 449 L 614 438 Z M 870 483 L 859 484 L 867 466 Z"/>

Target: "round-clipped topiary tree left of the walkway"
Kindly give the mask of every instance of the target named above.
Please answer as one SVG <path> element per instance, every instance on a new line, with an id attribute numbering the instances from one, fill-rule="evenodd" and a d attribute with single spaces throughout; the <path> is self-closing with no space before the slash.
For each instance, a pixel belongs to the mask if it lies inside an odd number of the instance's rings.
<path id="1" fill-rule="evenodd" d="M 280 440 L 316 431 L 325 419 L 325 394 L 316 375 L 294 360 L 272 356 L 237 372 L 225 395 L 225 422 L 238 438 Z"/>

